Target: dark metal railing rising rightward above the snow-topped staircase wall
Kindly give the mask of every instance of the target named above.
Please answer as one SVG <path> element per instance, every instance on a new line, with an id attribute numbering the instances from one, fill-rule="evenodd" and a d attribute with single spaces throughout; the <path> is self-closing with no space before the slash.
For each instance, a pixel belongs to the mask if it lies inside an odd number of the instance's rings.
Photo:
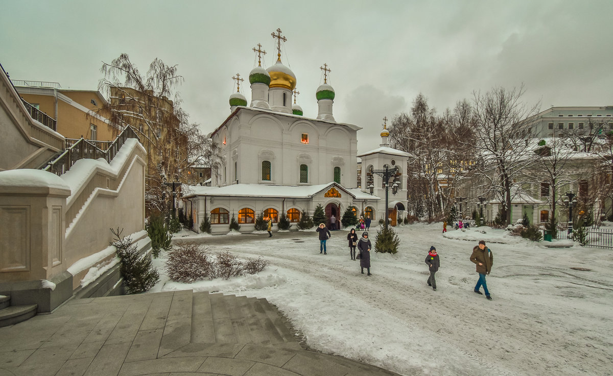
<path id="1" fill-rule="evenodd" d="M 113 160 L 119 149 L 121 149 L 121 146 L 126 143 L 126 140 L 128 138 L 135 138 L 136 140 L 140 141 L 139 136 L 130 126 L 126 127 L 117 136 L 117 138 L 115 138 L 115 141 L 113 142 L 85 140 L 84 138 L 80 138 L 78 140 L 67 139 L 66 150 L 64 150 L 62 154 L 56 157 L 56 159 L 49 162 L 43 168 L 43 170 L 49 171 L 51 173 L 54 173 L 55 175 L 60 176 L 63 173 L 66 173 L 66 171 L 70 170 L 70 167 L 72 167 L 72 165 L 74 165 L 77 160 L 83 158 L 104 158 L 107 162 L 110 163 L 110 161 Z M 102 145 L 101 143 L 104 143 L 104 145 Z M 105 146 L 105 148 L 102 149 L 99 148 L 99 146 Z"/>

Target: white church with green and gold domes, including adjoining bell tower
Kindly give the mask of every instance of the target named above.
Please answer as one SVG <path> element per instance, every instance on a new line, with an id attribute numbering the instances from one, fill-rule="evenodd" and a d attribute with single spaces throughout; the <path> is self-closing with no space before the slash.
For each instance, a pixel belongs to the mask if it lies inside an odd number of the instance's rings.
<path id="1" fill-rule="evenodd" d="M 205 216 L 210 218 L 211 233 L 229 231 L 232 217 L 241 232 L 254 230 L 259 214 L 271 217 L 273 224 L 285 213 L 290 222 L 299 222 L 303 212 L 313 215 L 317 205 L 325 209 L 326 217 L 340 219 L 347 208 L 356 216 L 370 216 L 372 227 L 379 219 L 392 218 L 406 208 L 406 171 L 410 154 L 387 144 L 389 132 L 381 132 L 383 143 L 373 151 L 358 156 L 357 131 L 354 124 L 337 122 L 333 116 L 335 92 L 327 83 L 331 71 L 327 64 L 324 83 L 316 90 L 318 114 L 310 118 L 295 104 L 297 79 L 281 62 L 281 42 L 286 37 L 277 29 L 277 60 L 268 69 L 261 66 L 261 45 L 258 66 L 249 73 L 251 102 L 240 92 L 229 99 L 230 115 L 208 135 L 220 147 L 222 167 L 211 174 L 210 186 L 183 188 L 187 210 L 191 210 L 194 229 Z M 292 99 L 294 99 L 292 101 Z M 389 209 L 385 206 L 383 178 L 363 173 L 358 186 L 357 157 L 365 171 L 396 167 L 397 176 L 390 181 Z M 383 197 L 383 198 L 382 198 Z M 387 213 L 387 214 L 386 214 Z M 292 226 L 292 230 L 295 229 Z"/>

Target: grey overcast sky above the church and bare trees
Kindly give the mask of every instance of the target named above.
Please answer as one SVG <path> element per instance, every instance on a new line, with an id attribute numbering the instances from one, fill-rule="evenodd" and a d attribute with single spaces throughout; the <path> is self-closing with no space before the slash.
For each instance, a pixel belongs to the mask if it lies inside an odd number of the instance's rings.
<path id="1" fill-rule="evenodd" d="M 524 83 L 525 102 L 613 105 L 613 1 L 9 1 L 0 0 L 0 63 L 13 80 L 97 89 L 121 53 L 146 72 L 178 64 L 183 109 L 204 133 L 229 115 L 231 77 L 257 66 L 251 50 L 297 77 L 297 103 L 317 116 L 319 69 L 332 72 L 338 122 L 363 127 L 359 152 L 381 142 L 384 116 L 421 92 L 440 112 L 473 91 Z M 245 80 L 247 83 L 248 80 Z M 248 101 L 248 84 L 241 92 Z"/>

